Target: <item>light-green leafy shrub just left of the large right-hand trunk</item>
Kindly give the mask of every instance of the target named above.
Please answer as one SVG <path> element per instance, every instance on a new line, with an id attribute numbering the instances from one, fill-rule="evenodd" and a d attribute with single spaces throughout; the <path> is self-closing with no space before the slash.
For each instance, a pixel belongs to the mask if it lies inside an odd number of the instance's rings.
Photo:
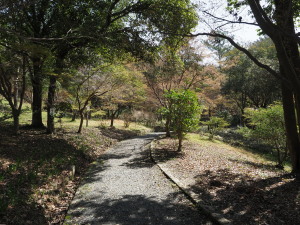
<path id="1" fill-rule="evenodd" d="M 268 108 L 247 109 L 245 116 L 253 129 L 249 135 L 273 146 L 277 151 L 278 166 L 282 167 L 287 157 L 286 131 L 283 107 L 276 103 Z M 245 128 L 244 128 L 245 129 Z"/>

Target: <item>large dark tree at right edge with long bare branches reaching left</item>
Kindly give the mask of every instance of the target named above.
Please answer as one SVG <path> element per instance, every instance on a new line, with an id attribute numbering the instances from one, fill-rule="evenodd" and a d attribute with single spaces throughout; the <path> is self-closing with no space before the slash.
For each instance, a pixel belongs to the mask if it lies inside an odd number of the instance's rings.
<path id="1" fill-rule="evenodd" d="M 227 9 L 229 14 L 234 16 L 233 20 L 220 18 L 204 10 L 206 16 L 218 21 L 218 26 L 211 32 L 192 35 L 208 35 L 228 40 L 234 47 L 244 52 L 256 65 L 280 80 L 288 147 L 292 158 L 292 172 L 294 173 L 300 173 L 300 135 L 297 128 L 300 124 L 298 119 L 300 118 L 300 37 L 295 29 L 300 13 L 299 4 L 299 1 L 295 0 L 275 0 L 264 3 L 260 0 L 228 0 Z M 243 7 L 249 7 L 249 13 L 251 18 L 255 19 L 255 22 L 236 20 L 236 15 L 240 13 L 240 10 L 243 10 Z M 227 24 L 257 26 L 264 34 L 269 36 L 276 48 L 280 72 L 278 73 L 270 65 L 259 61 L 250 51 L 235 42 L 233 38 L 224 35 L 220 28 L 224 29 Z"/>

